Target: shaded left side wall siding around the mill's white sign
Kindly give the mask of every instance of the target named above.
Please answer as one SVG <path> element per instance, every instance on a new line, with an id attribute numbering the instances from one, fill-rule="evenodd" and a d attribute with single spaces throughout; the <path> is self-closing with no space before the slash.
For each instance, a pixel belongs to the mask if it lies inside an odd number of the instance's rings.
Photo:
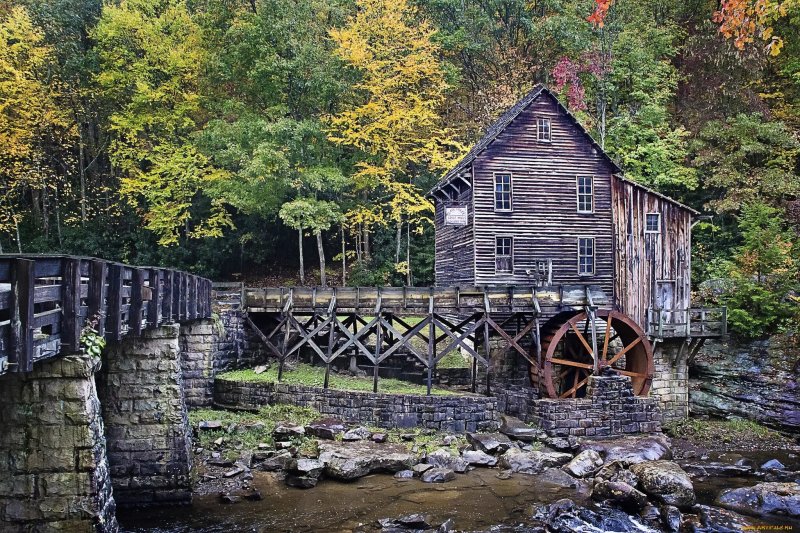
<path id="1" fill-rule="evenodd" d="M 467 207 L 466 226 L 445 226 L 444 209 L 455 205 Z M 462 191 L 452 201 L 436 200 L 436 286 L 474 284 L 472 221 L 471 189 Z"/>

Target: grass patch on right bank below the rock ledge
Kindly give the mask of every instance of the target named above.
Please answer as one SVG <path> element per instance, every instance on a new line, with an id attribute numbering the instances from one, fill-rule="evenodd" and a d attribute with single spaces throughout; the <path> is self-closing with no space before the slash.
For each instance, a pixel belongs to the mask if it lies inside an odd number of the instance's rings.
<path id="1" fill-rule="evenodd" d="M 780 433 L 752 420 L 732 418 L 730 420 L 701 420 L 687 418 L 664 425 L 664 432 L 673 438 L 695 443 L 732 443 L 748 440 L 781 438 Z"/>

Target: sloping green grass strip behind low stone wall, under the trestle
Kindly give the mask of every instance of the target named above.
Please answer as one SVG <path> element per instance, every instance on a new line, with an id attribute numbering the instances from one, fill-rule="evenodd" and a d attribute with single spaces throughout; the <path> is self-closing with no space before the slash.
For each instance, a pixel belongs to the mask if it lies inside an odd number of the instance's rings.
<path id="1" fill-rule="evenodd" d="M 247 381 L 251 383 L 275 383 L 278 381 L 278 366 L 273 365 L 261 374 L 256 374 L 253 370 L 233 370 L 218 375 L 217 379 Z M 282 383 L 322 387 L 325 383 L 325 369 L 306 364 L 298 365 L 292 370 L 284 369 Z M 372 392 L 372 377 L 343 376 L 331 372 L 328 385 L 332 389 Z M 381 378 L 378 380 L 378 392 L 392 394 L 425 394 L 427 388 L 425 385 L 417 385 L 399 379 Z M 434 387 L 431 390 L 431 394 L 447 396 L 457 395 L 458 392 Z"/>

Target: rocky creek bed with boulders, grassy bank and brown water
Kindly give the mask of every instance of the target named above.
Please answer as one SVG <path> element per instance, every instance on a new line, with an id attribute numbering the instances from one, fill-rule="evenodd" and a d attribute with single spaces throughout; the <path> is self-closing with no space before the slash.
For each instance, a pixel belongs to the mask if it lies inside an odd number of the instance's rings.
<path id="1" fill-rule="evenodd" d="M 196 430 L 194 503 L 121 511 L 123 531 L 800 531 L 796 446 L 554 439 L 511 417 L 466 435 L 278 423 L 252 449 L 234 438 L 252 427 Z"/>

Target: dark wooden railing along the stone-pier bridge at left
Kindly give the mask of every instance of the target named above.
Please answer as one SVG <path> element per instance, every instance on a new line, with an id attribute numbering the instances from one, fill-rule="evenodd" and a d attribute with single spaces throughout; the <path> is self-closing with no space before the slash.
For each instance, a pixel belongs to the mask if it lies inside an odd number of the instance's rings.
<path id="1" fill-rule="evenodd" d="M 89 257 L 0 255 L 0 373 L 80 350 L 91 325 L 107 340 L 211 316 L 211 281 Z"/>

